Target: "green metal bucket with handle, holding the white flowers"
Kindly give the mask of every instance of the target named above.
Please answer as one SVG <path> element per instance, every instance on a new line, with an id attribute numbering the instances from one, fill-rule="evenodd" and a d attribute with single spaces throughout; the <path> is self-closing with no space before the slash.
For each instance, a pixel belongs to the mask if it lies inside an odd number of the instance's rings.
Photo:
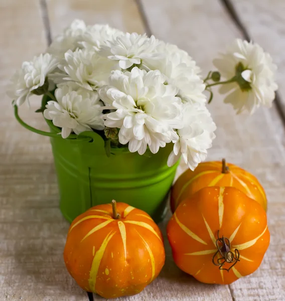
<path id="1" fill-rule="evenodd" d="M 16 106 L 15 116 L 29 130 L 51 137 L 60 209 L 69 222 L 90 207 L 112 199 L 146 211 L 156 222 L 163 219 L 178 166 L 167 166 L 172 143 L 149 158 L 125 148 L 111 148 L 107 157 L 104 140 L 95 132 L 71 134 L 63 139 L 58 135 L 60 129 L 50 120 L 47 123 L 51 132 L 43 132 L 26 124 Z"/>

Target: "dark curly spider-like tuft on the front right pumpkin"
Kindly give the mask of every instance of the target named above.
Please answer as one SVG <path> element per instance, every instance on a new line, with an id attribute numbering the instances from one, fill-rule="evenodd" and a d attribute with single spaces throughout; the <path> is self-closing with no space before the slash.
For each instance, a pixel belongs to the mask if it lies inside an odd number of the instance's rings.
<path id="1" fill-rule="evenodd" d="M 216 246 L 217 252 L 214 254 L 212 258 L 213 264 L 219 267 L 220 270 L 229 270 L 238 262 L 239 260 L 239 251 L 238 249 L 234 250 L 234 253 L 231 251 L 231 244 L 227 237 L 219 237 L 219 232 L 217 234 Z M 220 256 L 219 256 L 220 255 Z M 232 263 L 229 268 L 225 268 L 225 263 Z"/>

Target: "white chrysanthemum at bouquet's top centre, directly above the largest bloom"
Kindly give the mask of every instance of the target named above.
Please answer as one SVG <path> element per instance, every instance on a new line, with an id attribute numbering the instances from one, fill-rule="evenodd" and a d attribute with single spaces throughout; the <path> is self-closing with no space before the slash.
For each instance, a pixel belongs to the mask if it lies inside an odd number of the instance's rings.
<path id="1" fill-rule="evenodd" d="M 155 52 L 158 43 L 154 36 L 148 38 L 146 34 L 125 33 L 108 42 L 107 46 L 102 46 L 100 53 L 102 56 L 118 61 L 120 68 L 127 69 L 133 64 L 140 64 L 144 59 L 161 57 L 160 53 Z"/>

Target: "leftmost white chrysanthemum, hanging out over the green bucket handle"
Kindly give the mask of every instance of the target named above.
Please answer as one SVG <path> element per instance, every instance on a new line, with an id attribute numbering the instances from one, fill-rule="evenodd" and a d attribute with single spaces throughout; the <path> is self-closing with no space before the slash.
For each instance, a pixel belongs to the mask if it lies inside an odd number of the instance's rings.
<path id="1" fill-rule="evenodd" d="M 39 89 L 44 85 L 47 85 L 48 89 L 49 84 L 46 78 L 57 65 L 57 59 L 49 53 L 34 57 L 31 62 L 24 62 L 22 68 L 16 71 L 11 79 L 8 95 L 14 99 L 15 104 L 20 106 L 26 100 L 29 101 L 32 93 L 43 94 L 44 91 L 39 91 Z"/>

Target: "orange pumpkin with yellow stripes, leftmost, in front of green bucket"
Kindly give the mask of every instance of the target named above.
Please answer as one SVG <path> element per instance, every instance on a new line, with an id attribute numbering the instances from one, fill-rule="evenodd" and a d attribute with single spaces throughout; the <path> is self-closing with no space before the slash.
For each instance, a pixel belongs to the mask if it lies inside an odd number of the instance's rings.
<path id="1" fill-rule="evenodd" d="M 71 224 L 64 261 L 79 286 L 105 298 L 133 295 L 165 262 L 159 227 L 144 211 L 124 203 L 98 205 Z"/>

